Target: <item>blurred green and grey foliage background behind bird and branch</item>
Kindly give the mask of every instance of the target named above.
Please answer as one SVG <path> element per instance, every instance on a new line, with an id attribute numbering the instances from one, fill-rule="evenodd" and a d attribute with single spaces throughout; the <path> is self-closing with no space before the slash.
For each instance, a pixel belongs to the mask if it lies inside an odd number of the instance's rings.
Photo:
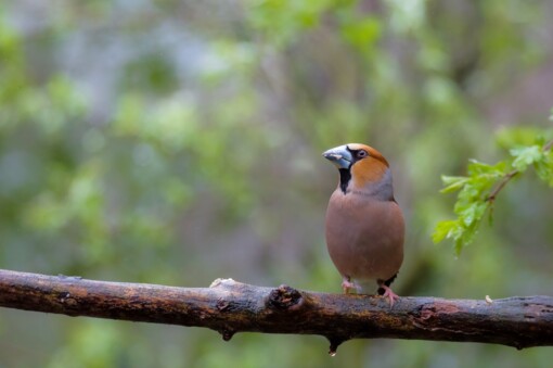
<path id="1" fill-rule="evenodd" d="M 553 194 L 434 245 L 440 175 L 551 138 L 553 2 L 0 1 L 0 267 L 340 292 L 321 157 L 369 143 L 408 224 L 400 295 L 553 294 Z M 0 310 L 1 367 L 501 367 L 550 348 L 217 332 Z"/>

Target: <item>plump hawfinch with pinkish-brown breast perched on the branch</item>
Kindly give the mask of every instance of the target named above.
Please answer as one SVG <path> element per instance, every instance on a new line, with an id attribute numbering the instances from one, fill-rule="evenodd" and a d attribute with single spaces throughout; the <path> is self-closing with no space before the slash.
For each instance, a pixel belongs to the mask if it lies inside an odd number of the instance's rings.
<path id="1" fill-rule="evenodd" d="M 390 289 L 403 262 L 404 220 L 394 198 L 386 158 L 372 147 L 348 143 L 323 156 L 339 172 L 325 218 L 326 248 L 342 275 L 342 288 L 365 293 L 376 281 L 389 306 L 399 296 Z"/>

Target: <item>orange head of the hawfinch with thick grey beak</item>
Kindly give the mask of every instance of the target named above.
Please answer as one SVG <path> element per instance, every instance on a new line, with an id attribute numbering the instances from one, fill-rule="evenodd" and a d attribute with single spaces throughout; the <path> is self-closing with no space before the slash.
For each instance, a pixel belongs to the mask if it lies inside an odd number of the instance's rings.
<path id="1" fill-rule="evenodd" d="M 323 156 L 338 168 L 339 187 L 344 193 L 365 190 L 374 192 L 374 189 L 380 188 L 386 192 L 382 194 L 388 195 L 389 191 L 393 196 L 388 162 L 372 147 L 348 143 L 330 149 Z"/>

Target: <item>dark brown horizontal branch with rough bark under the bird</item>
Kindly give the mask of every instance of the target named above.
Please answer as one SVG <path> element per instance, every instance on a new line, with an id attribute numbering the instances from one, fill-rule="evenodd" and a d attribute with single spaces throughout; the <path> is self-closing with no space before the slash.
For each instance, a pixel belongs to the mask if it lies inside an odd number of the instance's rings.
<path id="1" fill-rule="evenodd" d="M 330 353 L 350 339 L 480 342 L 524 348 L 553 345 L 553 297 L 386 300 L 255 287 L 217 279 L 209 288 L 86 280 L 0 270 L 0 306 L 236 332 L 324 335 Z"/>

